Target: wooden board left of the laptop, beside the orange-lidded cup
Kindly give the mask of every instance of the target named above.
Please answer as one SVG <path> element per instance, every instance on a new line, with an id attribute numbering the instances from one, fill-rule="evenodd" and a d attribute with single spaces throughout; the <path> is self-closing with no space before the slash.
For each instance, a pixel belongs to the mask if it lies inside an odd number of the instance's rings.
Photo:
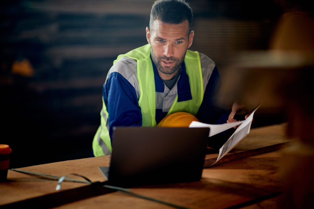
<path id="1" fill-rule="evenodd" d="M 105 177 L 100 173 L 98 166 L 108 166 L 109 163 L 110 156 L 101 156 L 35 165 L 21 168 L 21 170 L 56 176 L 77 173 L 88 177 L 94 182 L 105 180 Z M 84 180 L 79 177 L 77 179 Z M 8 182 L 1 182 L 0 185 L 0 205 L 57 192 L 56 180 L 19 173 L 12 170 L 8 170 Z M 65 181 L 62 183 L 62 190 L 73 189 L 84 185 L 85 184 L 82 183 Z"/>

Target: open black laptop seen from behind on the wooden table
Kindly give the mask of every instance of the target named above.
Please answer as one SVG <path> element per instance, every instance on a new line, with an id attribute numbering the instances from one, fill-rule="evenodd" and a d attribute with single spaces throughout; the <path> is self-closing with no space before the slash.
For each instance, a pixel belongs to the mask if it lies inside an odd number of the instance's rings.
<path id="1" fill-rule="evenodd" d="M 109 185 L 133 187 L 198 181 L 209 128 L 116 127 L 110 167 L 99 167 Z"/>

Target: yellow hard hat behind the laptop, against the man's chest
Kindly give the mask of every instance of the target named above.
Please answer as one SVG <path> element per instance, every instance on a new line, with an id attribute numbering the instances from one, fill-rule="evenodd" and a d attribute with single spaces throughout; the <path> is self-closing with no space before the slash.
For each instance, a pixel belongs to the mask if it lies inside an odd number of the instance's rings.
<path id="1" fill-rule="evenodd" d="M 187 112 L 176 112 L 167 115 L 163 118 L 157 126 L 159 127 L 189 127 L 192 121 L 198 121 L 198 119 Z"/>

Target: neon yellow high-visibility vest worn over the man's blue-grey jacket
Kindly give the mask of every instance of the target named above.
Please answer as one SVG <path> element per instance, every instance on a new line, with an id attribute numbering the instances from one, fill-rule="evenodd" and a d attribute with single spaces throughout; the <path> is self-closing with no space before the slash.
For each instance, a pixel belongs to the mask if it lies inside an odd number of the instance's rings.
<path id="1" fill-rule="evenodd" d="M 156 103 L 154 69 L 150 59 L 150 50 L 150 44 L 146 44 L 142 47 L 129 51 L 126 54 L 119 55 L 113 64 L 115 64 L 117 60 L 124 56 L 130 57 L 137 61 L 137 78 L 140 90 L 138 105 L 141 107 L 142 126 L 153 127 L 156 126 Z M 189 112 L 195 116 L 203 101 L 203 75 L 199 53 L 197 51 L 187 50 L 184 63 L 187 76 L 189 77 L 192 99 L 177 102 L 177 95 L 167 115 L 174 112 Z M 105 116 L 103 116 L 103 114 L 105 114 Z M 104 117 L 110 117 L 104 102 L 100 115 L 101 120 L 104 120 Z M 95 156 L 111 154 L 111 141 L 109 131 L 106 126 L 100 125 L 98 128 L 93 140 L 93 150 Z"/>

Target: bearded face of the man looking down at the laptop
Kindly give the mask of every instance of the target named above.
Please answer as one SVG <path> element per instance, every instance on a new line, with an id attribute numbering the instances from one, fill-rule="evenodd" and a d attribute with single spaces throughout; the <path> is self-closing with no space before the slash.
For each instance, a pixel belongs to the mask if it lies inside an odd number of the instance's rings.
<path id="1" fill-rule="evenodd" d="M 187 49 L 191 46 L 194 32 L 188 33 L 189 25 L 185 20 L 181 24 L 168 24 L 155 20 L 150 30 L 146 28 L 146 38 L 151 45 L 151 55 L 157 69 L 171 79 L 180 68 Z"/>

